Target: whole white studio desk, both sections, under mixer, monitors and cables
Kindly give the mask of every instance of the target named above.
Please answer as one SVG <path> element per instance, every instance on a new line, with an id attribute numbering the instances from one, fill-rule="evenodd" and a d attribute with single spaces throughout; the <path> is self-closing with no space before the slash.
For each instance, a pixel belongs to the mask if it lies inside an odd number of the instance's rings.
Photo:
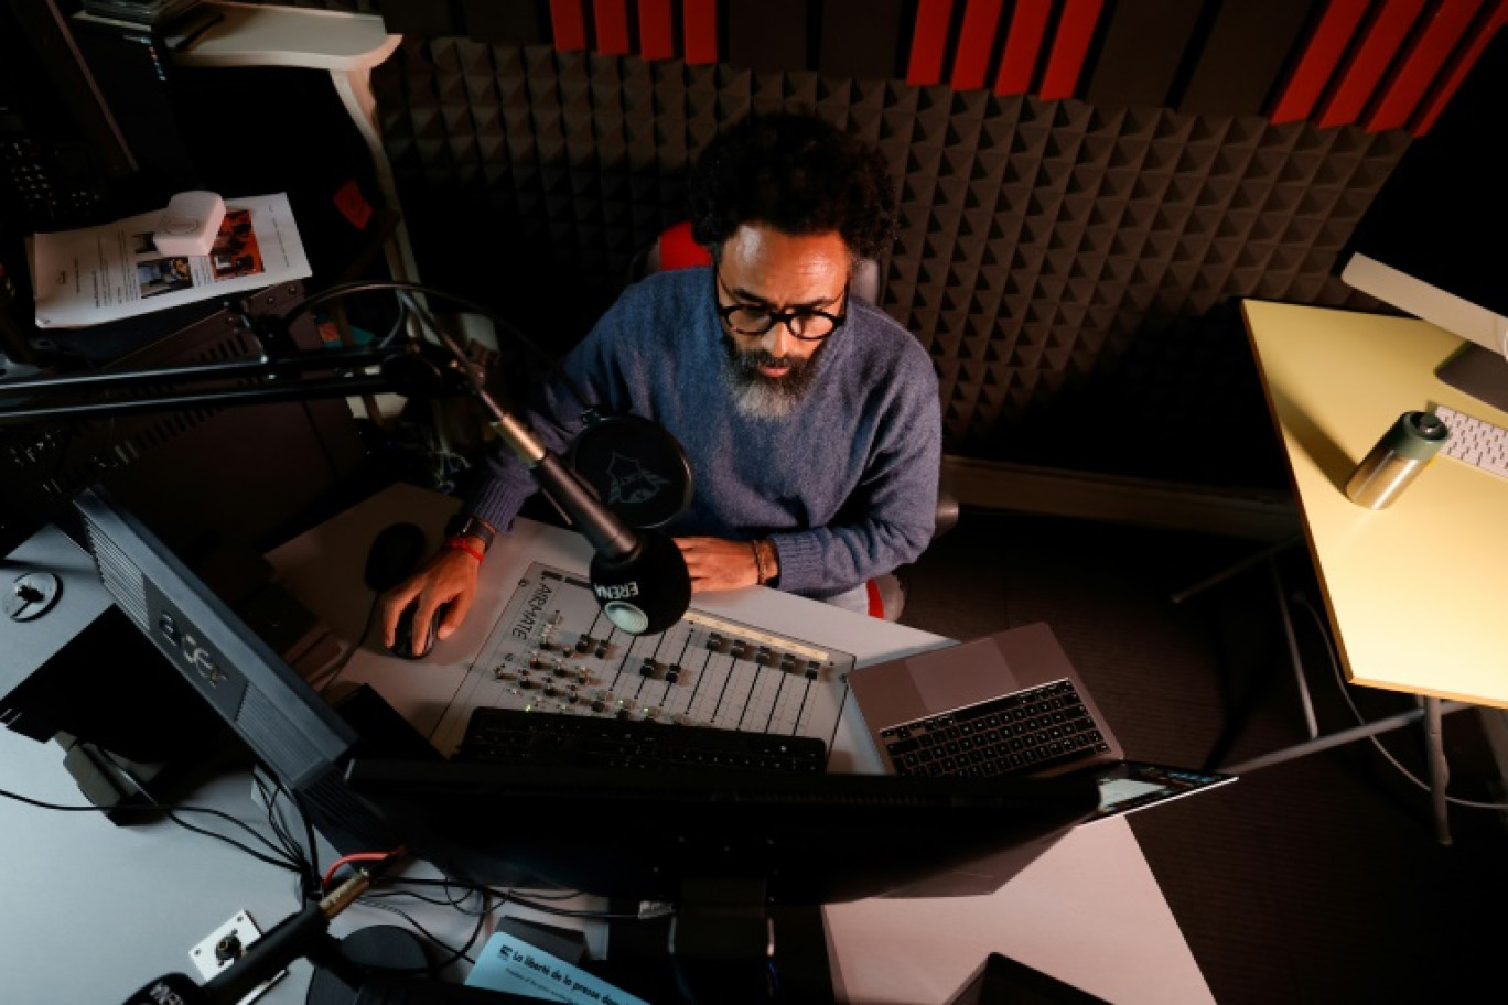
<path id="1" fill-rule="evenodd" d="M 351 640 L 360 634 L 369 594 L 336 585 L 359 582 L 354 577 L 369 532 L 412 520 L 439 535 L 454 505 L 433 493 L 394 487 L 268 557 L 335 634 Z M 383 684 L 380 690 L 400 711 L 422 713 L 433 701 L 434 681 L 483 645 L 489 612 L 501 610 L 505 585 L 511 585 L 510 564 L 522 561 L 525 551 L 576 571 L 588 559 L 578 536 L 520 520 L 489 554 L 489 579 L 472 618 L 436 648 L 431 661 L 421 666 L 394 660 L 368 643 L 353 654 L 347 671 Z M 811 637 L 863 661 L 947 642 L 762 588 L 697 598 L 695 606 L 771 631 Z M 855 735 L 863 734 L 847 722 L 840 732 L 835 749 L 847 750 L 855 768 L 873 770 L 873 752 L 855 743 Z M 249 799 L 237 794 L 238 782 L 229 779 L 225 785 L 229 788 L 217 790 L 223 800 L 241 806 L 247 817 L 259 817 Z M 3 732 L 0 788 L 77 802 L 68 793 L 56 749 Z M 157 973 L 185 969 L 187 946 L 235 910 L 249 909 L 264 930 L 293 910 L 284 874 L 170 824 L 119 830 L 93 815 L 63 815 L 0 800 L 0 851 L 9 863 L 26 863 L 21 875 L 8 880 L 0 907 L 0 973 L 8 975 L 6 991 L 15 1000 L 124 999 Z M 357 910 L 338 918 L 336 925 L 389 921 L 385 915 L 374 919 L 379 912 Z M 864 901 L 832 906 L 825 913 L 834 981 L 847 1002 L 946 1002 L 989 951 L 1111 1002 L 1212 1000 L 1122 818 L 1080 827 L 991 897 Z M 427 927 L 433 918 L 428 909 L 421 915 Z M 454 937 L 467 921 L 455 916 L 437 934 Z M 86 936 L 97 942 L 84 948 Z M 463 937 L 454 940 L 458 945 Z M 302 1000 L 306 973 L 296 967 L 264 1000 Z"/>

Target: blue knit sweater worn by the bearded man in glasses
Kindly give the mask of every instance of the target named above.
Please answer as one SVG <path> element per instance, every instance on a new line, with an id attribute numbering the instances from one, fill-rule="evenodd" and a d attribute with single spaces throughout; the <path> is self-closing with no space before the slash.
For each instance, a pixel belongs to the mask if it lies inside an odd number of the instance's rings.
<path id="1" fill-rule="evenodd" d="M 942 441 L 926 351 L 882 310 L 851 300 L 796 410 L 751 417 L 722 377 L 712 286 L 707 268 L 635 283 L 562 363 L 603 411 L 653 419 L 685 448 L 695 493 L 670 532 L 769 538 L 775 585 L 819 598 L 915 559 L 932 538 Z M 528 422 L 564 454 L 581 405 L 558 380 L 543 398 Z M 466 509 L 508 529 L 535 488 L 499 449 Z"/>

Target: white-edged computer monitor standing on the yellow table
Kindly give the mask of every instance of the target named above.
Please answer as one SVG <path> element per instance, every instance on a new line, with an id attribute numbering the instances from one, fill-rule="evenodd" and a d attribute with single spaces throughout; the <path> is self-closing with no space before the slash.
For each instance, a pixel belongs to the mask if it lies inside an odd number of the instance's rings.
<path id="1" fill-rule="evenodd" d="M 1440 377 L 1508 410 L 1503 93 L 1508 35 L 1499 33 L 1368 206 L 1341 279 L 1472 342 L 1481 351 Z"/>

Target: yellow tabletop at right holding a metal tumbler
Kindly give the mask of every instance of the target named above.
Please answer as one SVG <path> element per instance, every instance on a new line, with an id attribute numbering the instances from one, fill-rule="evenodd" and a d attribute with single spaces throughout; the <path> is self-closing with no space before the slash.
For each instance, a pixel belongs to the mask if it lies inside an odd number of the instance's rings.
<path id="1" fill-rule="evenodd" d="M 1508 426 L 1434 375 L 1461 339 L 1411 318 L 1244 312 L 1348 678 L 1508 707 L 1508 479 L 1442 455 L 1384 509 L 1345 497 L 1405 411 L 1443 404 Z"/>

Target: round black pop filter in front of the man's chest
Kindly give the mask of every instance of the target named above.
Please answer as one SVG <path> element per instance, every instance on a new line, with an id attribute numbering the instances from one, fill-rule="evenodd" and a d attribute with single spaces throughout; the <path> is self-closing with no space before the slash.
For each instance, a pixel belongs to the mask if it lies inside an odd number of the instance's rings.
<path id="1" fill-rule="evenodd" d="M 630 527 L 664 527 L 691 505 L 691 461 L 664 426 L 641 416 L 590 420 L 570 446 L 572 467 Z"/>

